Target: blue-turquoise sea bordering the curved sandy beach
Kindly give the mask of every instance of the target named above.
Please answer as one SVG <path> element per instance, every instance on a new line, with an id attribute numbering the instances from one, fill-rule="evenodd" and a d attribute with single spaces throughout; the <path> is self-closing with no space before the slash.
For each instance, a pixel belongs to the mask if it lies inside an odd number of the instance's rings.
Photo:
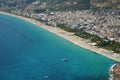
<path id="1" fill-rule="evenodd" d="M 0 80 L 106 80 L 114 63 L 32 23 L 0 15 Z"/>

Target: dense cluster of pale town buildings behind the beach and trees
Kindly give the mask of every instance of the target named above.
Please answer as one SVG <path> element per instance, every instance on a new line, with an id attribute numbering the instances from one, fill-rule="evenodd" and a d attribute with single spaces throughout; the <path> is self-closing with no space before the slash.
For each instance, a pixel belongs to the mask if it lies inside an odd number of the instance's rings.
<path id="1" fill-rule="evenodd" d="M 55 11 L 44 13 L 21 13 L 24 16 L 43 21 L 47 25 L 66 24 L 67 27 L 82 29 L 99 37 L 120 41 L 119 11 L 94 12 L 92 10 Z"/>

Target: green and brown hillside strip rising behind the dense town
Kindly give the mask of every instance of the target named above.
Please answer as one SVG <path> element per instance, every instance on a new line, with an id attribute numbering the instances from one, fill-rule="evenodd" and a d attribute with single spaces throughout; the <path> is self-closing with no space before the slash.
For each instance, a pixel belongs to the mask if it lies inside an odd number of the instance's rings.
<path id="1" fill-rule="evenodd" d="M 85 10 L 120 8 L 120 0 L 0 0 L 0 10 Z"/>

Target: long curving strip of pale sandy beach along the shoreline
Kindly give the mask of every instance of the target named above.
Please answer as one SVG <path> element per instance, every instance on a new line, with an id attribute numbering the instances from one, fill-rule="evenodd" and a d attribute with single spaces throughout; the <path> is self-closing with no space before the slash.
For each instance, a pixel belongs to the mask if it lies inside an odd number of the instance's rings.
<path id="1" fill-rule="evenodd" d="M 100 54 L 100 55 L 103 55 L 103 56 L 106 56 L 108 58 L 111 58 L 115 61 L 118 61 L 120 62 L 120 55 L 119 54 L 116 54 L 116 53 L 113 53 L 112 51 L 108 51 L 108 50 L 105 50 L 105 49 L 102 49 L 102 48 L 98 48 L 97 46 L 92 46 L 90 43 L 89 40 L 86 40 L 86 39 L 82 39 L 76 35 L 74 35 L 74 33 L 70 33 L 70 32 L 67 32 L 65 30 L 62 30 L 60 28 L 56 28 L 56 27 L 53 27 L 53 26 L 47 26 L 47 25 L 44 25 L 43 23 L 37 21 L 37 20 L 34 20 L 34 19 L 30 19 L 30 18 L 26 18 L 26 17 L 22 17 L 22 16 L 18 16 L 18 15 L 14 15 L 14 14 L 10 14 L 10 13 L 5 13 L 5 12 L 0 12 L 0 14 L 6 14 L 6 15 L 10 15 L 10 16 L 14 16 L 14 17 L 17 17 L 17 18 L 21 18 L 23 20 L 26 20 L 30 23 L 33 23 L 41 28 L 44 28 L 52 33 L 55 33 L 56 35 L 74 43 L 75 45 L 78 45 L 80 47 L 83 47 L 85 49 L 88 49 L 90 51 L 93 51 L 95 52 L 96 54 Z"/>

